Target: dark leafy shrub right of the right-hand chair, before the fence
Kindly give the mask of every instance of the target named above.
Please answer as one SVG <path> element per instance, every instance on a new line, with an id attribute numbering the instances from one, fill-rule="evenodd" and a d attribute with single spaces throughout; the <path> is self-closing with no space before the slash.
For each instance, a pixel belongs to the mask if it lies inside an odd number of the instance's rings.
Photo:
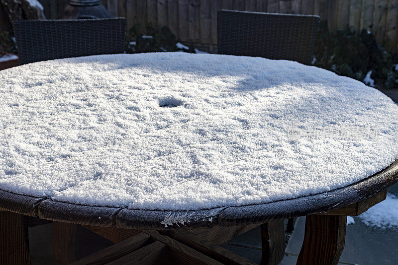
<path id="1" fill-rule="evenodd" d="M 363 29 L 356 34 L 346 28 L 330 33 L 327 23 L 322 21 L 314 47 L 314 66 L 334 71 L 363 81 L 372 71 L 375 85 L 384 88 L 398 88 L 398 59 L 379 45 L 374 35 Z"/>

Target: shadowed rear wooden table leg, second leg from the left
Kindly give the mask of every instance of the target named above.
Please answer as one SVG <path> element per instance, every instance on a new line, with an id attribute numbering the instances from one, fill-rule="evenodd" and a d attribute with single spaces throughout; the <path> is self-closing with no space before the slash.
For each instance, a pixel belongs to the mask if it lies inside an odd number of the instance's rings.
<path id="1" fill-rule="evenodd" d="M 70 264 L 76 261 L 76 228 L 76 224 L 53 222 L 52 251 L 55 260 L 61 264 Z"/>

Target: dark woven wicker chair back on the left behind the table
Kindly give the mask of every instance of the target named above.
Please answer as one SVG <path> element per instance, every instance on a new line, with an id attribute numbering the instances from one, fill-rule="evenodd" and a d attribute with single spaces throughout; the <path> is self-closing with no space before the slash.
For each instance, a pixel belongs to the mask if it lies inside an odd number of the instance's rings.
<path id="1" fill-rule="evenodd" d="M 19 20 L 13 26 L 20 65 L 124 52 L 125 18 Z"/>

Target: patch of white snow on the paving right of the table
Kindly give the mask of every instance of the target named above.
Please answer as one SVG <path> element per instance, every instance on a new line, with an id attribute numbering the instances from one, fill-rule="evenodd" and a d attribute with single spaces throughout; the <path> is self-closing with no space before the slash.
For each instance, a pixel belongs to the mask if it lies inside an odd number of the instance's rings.
<path id="1" fill-rule="evenodd" d="M 398 196 L 387 194 L 387 199 L 359 215 L 369 226 L 382 229 L 398 228 Z"/>

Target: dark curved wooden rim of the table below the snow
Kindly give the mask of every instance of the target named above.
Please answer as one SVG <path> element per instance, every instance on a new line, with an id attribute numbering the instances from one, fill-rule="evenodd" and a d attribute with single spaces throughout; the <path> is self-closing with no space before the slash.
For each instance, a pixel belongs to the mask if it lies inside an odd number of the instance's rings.
<path id="1" fill-rule="evenodd" d="M 368 178 L 333 191 L 256 205 L 198 211 L 134 210 L 59 202 L 0 190 L 0 210 L 59 222 L 127 229 L 212 228 L 265 223 L 331 211 L 367 199 L 397 181 L 398 159 Z M 180 223 L 178 217 L 181 215 L 191 216 L 192 219 Z"/>

